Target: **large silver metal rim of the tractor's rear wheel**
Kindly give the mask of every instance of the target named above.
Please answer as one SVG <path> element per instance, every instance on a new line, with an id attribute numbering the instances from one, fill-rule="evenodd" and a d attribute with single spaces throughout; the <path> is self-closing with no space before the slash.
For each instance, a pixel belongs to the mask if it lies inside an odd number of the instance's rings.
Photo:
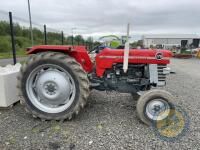
<path id="1" fill-rule="evenodd" d="M 60 113 L 75 99 L 75 82 L 68 71 L 60 66 L 45 64 L 35 68 L 26 82 L 31 103 L 46 113 Z"/>

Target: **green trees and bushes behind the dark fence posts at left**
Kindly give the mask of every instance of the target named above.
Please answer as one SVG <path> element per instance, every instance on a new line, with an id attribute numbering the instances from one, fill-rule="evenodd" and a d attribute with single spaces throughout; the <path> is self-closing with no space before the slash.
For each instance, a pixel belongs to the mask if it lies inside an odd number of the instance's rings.
<path id="1" fill-rule="evenodd" d="M 26 53 L 26 48 L 31 47 L 30 30 L 27 27 L 14 24 L 15 46 L 17 55 L 23 56 Z M 38 28 L 33 28 L 34 45 L 44 44 L 44 32 Z M 48 45 L 61 45 L 61 33 L 47 32 Z M 92 37 L 87 40 L 81 35 L 73 37 L 74 45 L 85 45 L 91 49 L 95 44 Z M 64 38 L 65 45 L 72 45 L 72 36 Z M 6 21 L 0 21 L 0 58 L 12 57 L 12 44 L 10 38 L 10 24 Z"/>

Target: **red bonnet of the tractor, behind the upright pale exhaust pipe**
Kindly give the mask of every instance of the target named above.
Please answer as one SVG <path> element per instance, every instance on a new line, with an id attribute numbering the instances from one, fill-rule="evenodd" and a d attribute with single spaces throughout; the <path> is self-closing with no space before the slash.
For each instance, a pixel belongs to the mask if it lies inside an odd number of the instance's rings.
<path id="1" fill-rule="evenodd" d="M 157 54 L 162 54 L 162 59 L 158 59 Z M 96 56 L 96 73 L 102 77 L 106 69 L 112 68 L 113 64 L 123 63 L 123 49 L 105 48 Z M 137 50 L 131 49 L 129 52 L 129 64 L 169 64 L 172 53 L 168 50 Z"/>

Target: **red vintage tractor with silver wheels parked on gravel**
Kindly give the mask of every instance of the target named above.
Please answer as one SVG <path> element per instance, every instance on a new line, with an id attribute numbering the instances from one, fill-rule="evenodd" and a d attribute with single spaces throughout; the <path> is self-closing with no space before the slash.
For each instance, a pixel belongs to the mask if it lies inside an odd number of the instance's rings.
<path id="1" fill-rule="evenodd" d="M 77 115 L 92 89 L 131 93 L 139 118 L 150 125 L 171 113 L 173 96 L 164 86 L 170 73 L 168 50 L 96 48 L 95 63 L 84 46 L 34 46 L 18 77 L 21 103 L 34 117 L 65 120 Z M 139 96 L 138 92 L 147 91 Z M 139 99 L 138 99 L 139 98 Z"/>

